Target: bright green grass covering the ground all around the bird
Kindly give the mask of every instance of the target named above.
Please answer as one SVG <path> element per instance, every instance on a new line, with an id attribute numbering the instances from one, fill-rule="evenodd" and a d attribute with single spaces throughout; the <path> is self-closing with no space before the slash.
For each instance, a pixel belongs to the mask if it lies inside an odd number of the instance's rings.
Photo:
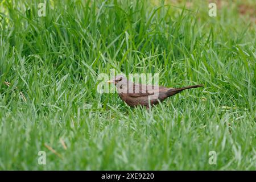
<path id="1" fill-rule="evenodd" d="M 256 169 L 255 23 L 237 11 L 247 1 L 217 17 L 207 1 L 47 1 L 46 17 L 39 2 L 0 2 L 0 169 Z M 133 109 L 97 92 L 110 69 L 205 87 Z"/>

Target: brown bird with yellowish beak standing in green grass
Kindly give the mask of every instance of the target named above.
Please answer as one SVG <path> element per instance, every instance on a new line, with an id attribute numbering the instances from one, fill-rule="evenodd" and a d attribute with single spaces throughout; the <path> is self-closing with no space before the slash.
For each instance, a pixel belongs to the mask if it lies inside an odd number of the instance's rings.
<path id="1" fill-rule="evenodd" d="M 142 105 L 146 106 L 147 109 L 150 105 L 159 104 L 159 102 L 174 96 L 182 90 L 203 87 L 203 85 L 193 85 L 183 88 L 167 88 L 156 85 L 134 84 L 123 75 L 118 75 L 114 80 L 109 80 L 108 82 L 115 84 L 119 97 L 127 105 L 131 107 Z"/>

